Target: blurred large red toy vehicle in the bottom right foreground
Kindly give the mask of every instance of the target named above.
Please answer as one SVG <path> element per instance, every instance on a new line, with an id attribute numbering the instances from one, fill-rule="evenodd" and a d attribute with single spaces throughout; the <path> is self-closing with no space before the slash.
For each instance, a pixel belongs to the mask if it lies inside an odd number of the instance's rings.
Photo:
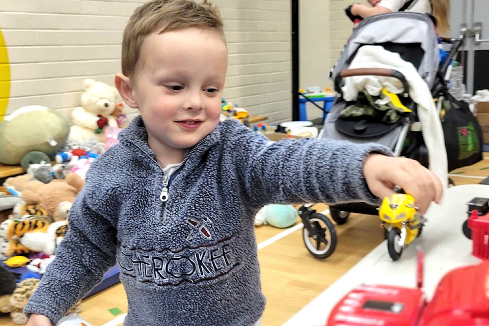
<path id="1" fill-rule="evenodd" d="M 489 326 L 489 261 L 449 271 L 427 302 L 422 260 L 418 252 L 416 288 L 359 286 L 336 304 L 325 325 Z"/>

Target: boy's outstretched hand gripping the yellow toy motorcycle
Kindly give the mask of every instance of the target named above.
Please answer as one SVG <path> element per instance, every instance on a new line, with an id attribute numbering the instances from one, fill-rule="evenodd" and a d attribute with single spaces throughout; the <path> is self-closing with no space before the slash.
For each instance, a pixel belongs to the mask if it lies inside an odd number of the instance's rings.
<path id="1" fill-rule="evenodd" d="M 420 214 L 432 201 L 439 204 L 443 195 L 440 179 L 414 159 L 371 154 L 365 159 L 363 174 L 370 191 L 379 198 L 393 194 L 394 186 L 400 186 L 414 197 Z"/>

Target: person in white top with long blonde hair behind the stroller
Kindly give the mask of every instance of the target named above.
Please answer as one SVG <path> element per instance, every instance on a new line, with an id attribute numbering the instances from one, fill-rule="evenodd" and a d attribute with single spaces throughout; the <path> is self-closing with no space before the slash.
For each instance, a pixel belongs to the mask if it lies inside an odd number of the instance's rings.
<path id="1" fill-rule="evenodd" d="M 431 14 L 436 18 L 438 35 L 450 36 L 450 0 L 368 0 L 368 3 L 371 7 L 351 5 L 351 14 L 362 18 L 397 11 Z"/>

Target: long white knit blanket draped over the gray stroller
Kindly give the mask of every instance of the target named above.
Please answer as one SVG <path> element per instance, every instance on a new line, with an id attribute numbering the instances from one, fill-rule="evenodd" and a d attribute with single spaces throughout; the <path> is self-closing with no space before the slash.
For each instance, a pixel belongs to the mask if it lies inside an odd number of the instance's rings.
<path id="1" fill-rule="evenodd" d="M 390 52 L 377 45 L 360 47 L 348 68 L 396 69 L 404 75 L 409 84 L 409 96 L 418 104 L 418 118 L 428 150 L 429 169 L 440 178 L 446 188 L 448 186 L 448 162 L 442 124 L 429 87 L 416 68 L 410 62 L 402 60 L 398 53 Z M 356 100 L 357 94 L 363 89 L 366 89 L 371 95 L 378 96 L 383 86 L 391 93 L 402 92 L 402 84 L 396 78 L 354 76 L 345 78 L 345 85 L 342 88 L 343 98 L 346 101 Z"/>

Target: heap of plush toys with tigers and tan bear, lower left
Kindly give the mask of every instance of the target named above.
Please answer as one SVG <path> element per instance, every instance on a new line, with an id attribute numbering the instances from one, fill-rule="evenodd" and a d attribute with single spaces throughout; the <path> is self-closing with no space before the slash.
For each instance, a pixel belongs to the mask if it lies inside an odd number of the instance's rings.
<path id="1" fill-rule="evenodd" d="M 0 193 L 0 312 L 9 313 L 16 324 L 27 322 L 22 309 L 55 258 L 71 204 L 84 184 L 76 173 L 47 183 L 25 174 L 7 178 L 2 187 L 16 195 Z"/>

